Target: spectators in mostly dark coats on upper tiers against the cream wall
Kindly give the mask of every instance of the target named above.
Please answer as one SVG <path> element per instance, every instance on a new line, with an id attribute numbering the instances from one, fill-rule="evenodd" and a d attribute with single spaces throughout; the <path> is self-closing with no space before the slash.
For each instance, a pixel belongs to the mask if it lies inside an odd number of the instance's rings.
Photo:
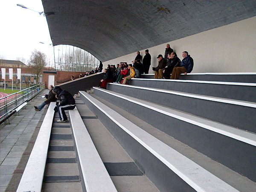
<path id="1" fill-rule="evenodd" d="M 163 55 L 158 55 L 158 65 L 157 67 L 152 67 L 154 71 L 155 79 L 179 79 L 180 74 L 191 73 L 194 61 L 190 57 L 187 51 L 182 52 L 182 61 L 177 57 L 177 53 L 170 47 L 169 44 L 166 45 L 165 53 Z M 142 61 L 142 63 L 141 63 Z M 149 50 L 145 50 L 145 56 L 142 59 L 140 52 L 137 51 L 137 55 L 132 64 L 127 64 L 127 62 L 120 62 L 119 64 L 109 65 L 103 70 L 104 77 L 100 81 L 99 87 L 106 89 L 107 83 L 120 83 L 127 84 L 127 81 L 131 78 L 140 78 L 143 73 L 148 74 L 151 65 L 151 55 Z M 102 64 L 102 62 L 101 62 Z"/>

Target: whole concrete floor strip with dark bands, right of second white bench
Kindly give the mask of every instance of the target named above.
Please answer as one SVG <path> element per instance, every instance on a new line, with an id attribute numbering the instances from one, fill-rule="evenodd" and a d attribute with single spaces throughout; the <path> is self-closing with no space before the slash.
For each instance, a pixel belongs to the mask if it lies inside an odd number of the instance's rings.
<path id="1" fill-rule="evenodd" d="M 84 105 L 77 100 L 77 109 L 83 123 L 90 134 L 93 143 L 104 162 L 111 179 L 118 191 L 147 191 L 159 192 L 156 186 L 139 169 L 134 169 L 134 161 L 113 138 L 109 131 L 102 125 L 99 119 Z M 83 105 L 82 105 L 83 104 Z M 139 174 L 140 172 L 140 174 Z"/>

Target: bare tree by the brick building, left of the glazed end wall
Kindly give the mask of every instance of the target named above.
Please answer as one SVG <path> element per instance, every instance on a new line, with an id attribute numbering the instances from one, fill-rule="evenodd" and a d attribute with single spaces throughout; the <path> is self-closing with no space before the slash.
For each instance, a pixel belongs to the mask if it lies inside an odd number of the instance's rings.
<path id="1" fill-rule="evenodd" d="M 36 83 L 39 82 L 40 74 L 42 73 L 46 65 L 47 65 L 46 55 L 35 49 L 32 52 L 32 55 L 30 56 L 29 66 L 31 67 L 32 72 L 35 74 Z"/>

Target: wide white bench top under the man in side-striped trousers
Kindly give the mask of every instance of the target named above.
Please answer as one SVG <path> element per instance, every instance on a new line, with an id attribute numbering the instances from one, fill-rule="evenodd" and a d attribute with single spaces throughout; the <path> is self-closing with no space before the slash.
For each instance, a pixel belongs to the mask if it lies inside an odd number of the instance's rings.
<path id="1" fill-rule="evenodd" d="M 86 191 L 117 192 L 77 108 L 69 115 Z"/>

